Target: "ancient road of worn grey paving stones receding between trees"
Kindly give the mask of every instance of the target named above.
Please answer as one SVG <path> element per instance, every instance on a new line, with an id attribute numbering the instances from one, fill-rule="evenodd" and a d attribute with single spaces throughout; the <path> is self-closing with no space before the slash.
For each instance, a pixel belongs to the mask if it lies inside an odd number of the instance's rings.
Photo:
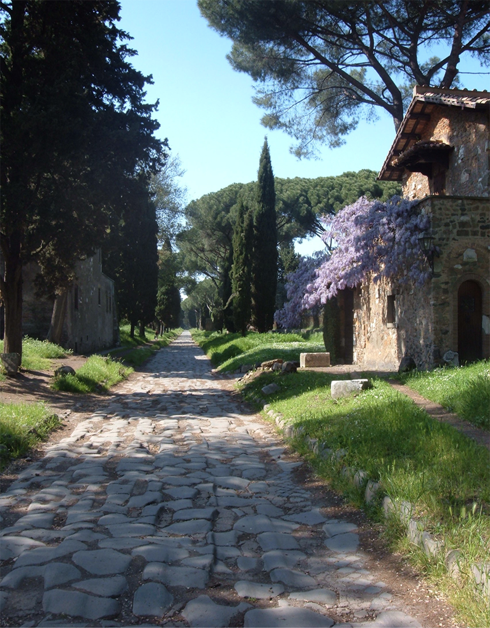
<path id="1" fill-rule="evenodd" d="M 0 495 L 0 625 L 420 628 L 283 453 L 184 332 Z"/>

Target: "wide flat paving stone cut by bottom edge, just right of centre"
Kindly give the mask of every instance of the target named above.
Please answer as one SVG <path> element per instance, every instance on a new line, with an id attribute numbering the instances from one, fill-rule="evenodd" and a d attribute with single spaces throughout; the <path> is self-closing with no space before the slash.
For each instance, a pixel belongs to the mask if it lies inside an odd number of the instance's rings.
<path id="1" fill-rule="evenodd" d="M 309 609 L 286 606 L 277 609 L 253 609 L 245 613 L 243 628 L 331 628 L 333 619 Z M 376 627 L 378 628 L 378 627 Z"/>

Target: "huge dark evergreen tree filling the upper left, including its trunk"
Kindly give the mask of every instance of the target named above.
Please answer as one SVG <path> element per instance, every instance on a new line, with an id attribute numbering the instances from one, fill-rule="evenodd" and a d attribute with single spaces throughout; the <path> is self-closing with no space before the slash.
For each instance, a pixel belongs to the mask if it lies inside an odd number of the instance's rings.
<path id="1" fill-rule="evenodd" d="M 4 350 L 21 354 L 22 266 L 68 271 L 105 236 L 124 181 L 164 160 L 117 0 L 0 2 Z M 68 246 L 67 246 L 68 245 Z"/>

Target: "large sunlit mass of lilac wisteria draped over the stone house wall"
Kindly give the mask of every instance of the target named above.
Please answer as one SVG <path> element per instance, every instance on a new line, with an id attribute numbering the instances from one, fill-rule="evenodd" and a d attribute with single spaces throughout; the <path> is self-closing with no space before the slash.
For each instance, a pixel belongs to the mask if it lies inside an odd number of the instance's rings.
<path id="1" fill-rule="evenodd" d="M 387 202 L 361 197 L 334 217 L 324 219 L 324 242 L 337 246 L 306 286 L 302 307 L 324 304 L 344 288 L 355 288 L 381 277 L 412 280 L 422 285 L 430 269 L 418 238 L 430 229 L 430 216 L 417 210 L 417 201 L 393 197 Z"/>

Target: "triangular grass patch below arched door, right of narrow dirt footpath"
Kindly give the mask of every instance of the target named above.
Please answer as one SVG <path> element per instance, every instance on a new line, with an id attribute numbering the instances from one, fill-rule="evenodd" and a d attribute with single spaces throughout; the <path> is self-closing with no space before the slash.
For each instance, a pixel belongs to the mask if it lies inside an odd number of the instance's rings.
<path id="1" fill-rule="evenodd" d="M 412 372 L 400 376 L 426 399 L 440 403 L 461 418 L 490 430 L 490 362 L 482 360 L 469 366 Z"/>

